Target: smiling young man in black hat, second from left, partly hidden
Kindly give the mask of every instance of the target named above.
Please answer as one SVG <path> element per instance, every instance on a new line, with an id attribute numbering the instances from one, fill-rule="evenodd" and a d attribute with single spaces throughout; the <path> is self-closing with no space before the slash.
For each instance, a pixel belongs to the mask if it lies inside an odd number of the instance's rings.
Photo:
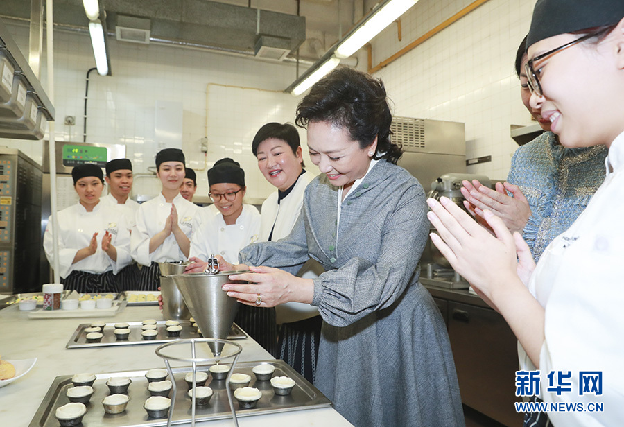
<path id="1" fill-rule="evenodd" d="M 132 162 L 130 159 L 114 159 L 107 162 L 105 169 L 104 180 L 108 184 L 108 194 L 101 200 L 103 204 L 109 204 L 113 209 L 121 211 L 128 228 L 132 230 L 135 225 L 135 214 L 139 209 L 139 204 L 130 198 L 134 181 Z M 134 261 L 126 265 L 117 275 L 120 290 L 132 289 L 137 280 L 139 280 L 139 268 Z"/>

